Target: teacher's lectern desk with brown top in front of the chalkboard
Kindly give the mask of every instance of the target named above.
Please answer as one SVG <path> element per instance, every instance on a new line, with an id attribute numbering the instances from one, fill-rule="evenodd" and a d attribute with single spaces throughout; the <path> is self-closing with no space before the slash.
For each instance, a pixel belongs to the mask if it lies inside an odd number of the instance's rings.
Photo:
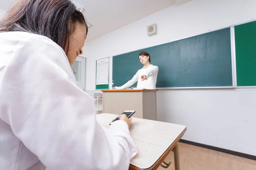
<path id="1" fill-rule="evenodd" d="M 157 90 L 102 90 L 103 113 L 120 114 L 125 110 L 136 111 L 134 117 L 157 119 Z"/>

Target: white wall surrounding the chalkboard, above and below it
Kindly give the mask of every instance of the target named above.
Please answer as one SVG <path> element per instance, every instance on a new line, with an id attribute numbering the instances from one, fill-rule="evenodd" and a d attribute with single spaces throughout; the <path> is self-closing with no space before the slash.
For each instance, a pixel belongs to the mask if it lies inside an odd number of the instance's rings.
<path id="1" fill-rule="evenodd" d="M 84 47 L 87 90 L 95 89 L 96 59 L 254 20 L 255 9 L 256 0 L 192 0 L 93 40 Z M 158 34 L 148 37 L 152 23 Z M 256 156 L 256 89 L 160 90 L 157 120 L 186 125 L 185 140 Z"/>

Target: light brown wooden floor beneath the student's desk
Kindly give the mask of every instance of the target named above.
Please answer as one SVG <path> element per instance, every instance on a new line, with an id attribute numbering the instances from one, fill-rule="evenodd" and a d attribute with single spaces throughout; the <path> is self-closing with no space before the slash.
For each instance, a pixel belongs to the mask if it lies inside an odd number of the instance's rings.
<path id="1" fill-rule="evenodd" d="M 180 170 L 256 170 L 256 161 L 214 150 L 196 147 L 179 142 Z M 168 169 L 159 167 L 157 170 L 175 170 L 173 152 L 166 163 L 172 161 Z"/>

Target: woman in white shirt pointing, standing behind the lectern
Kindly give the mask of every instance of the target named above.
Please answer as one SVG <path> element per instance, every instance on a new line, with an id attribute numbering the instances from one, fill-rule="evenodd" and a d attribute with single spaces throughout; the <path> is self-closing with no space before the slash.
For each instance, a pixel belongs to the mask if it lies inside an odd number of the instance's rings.
<path id="1" fill-rule="evenodd" d="M 140 62 L 144 65 L 143 68 L 137 71 L 134 77 L 121 87 L 114 87 L 113 90 L 122 90 L 131 87 L 137 83 L 137 88 L 156 89 L 158 67 L 150 64 L 150 55 L 146 51 L 139 54 Z"/>

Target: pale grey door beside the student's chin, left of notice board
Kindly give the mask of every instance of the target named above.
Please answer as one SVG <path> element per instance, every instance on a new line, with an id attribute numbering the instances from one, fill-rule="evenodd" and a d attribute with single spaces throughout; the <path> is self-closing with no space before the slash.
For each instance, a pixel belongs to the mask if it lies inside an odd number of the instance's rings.
<path id="1" fill-rule="evenodd" d="M 86 67 L 86 58 L 77 57 L 74 64 L 71 66 L 75 77 L 76 83 L 79 88 L 85 91 L 85 68 Z"/>

